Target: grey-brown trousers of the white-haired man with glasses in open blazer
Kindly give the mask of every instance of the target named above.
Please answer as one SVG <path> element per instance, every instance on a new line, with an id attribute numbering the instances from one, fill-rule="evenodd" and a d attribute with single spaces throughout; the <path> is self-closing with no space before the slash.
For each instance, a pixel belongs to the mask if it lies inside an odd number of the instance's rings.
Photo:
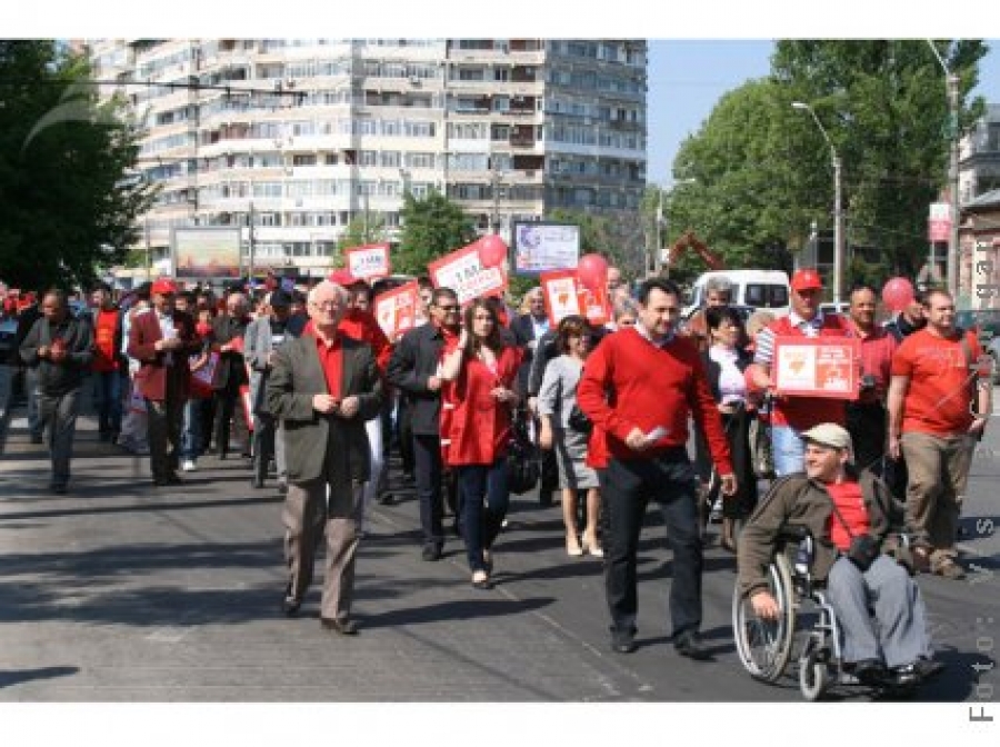
<path id="1" fill-rule="evenodd" d="M 348 495 L 329 496 L 324 479 L 292 482 L 284 497 L 284 559 L 288 596 L 302 599 L 312 582 L 316 548 L 327 534 L 327 569 L 320 615 L 343 620 L 350 617 L 354 594 L 354 558 L 358 521 L 364 486 L 354 484 Z"/>

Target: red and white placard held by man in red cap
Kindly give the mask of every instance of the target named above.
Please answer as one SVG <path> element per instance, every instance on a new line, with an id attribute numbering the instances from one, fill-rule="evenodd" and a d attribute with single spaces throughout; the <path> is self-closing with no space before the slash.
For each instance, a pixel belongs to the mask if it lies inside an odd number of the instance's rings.
<path id="1" fill-rule="evenodd" d="M 788 397 L 858 399 L 861 341 L 852 337 L 776 337 L 774 389 Z"/>

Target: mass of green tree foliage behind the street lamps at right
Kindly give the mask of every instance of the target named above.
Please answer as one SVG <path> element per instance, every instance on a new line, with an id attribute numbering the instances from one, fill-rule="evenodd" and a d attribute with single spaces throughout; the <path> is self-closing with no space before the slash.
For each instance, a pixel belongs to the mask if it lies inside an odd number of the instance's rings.
<path id="1" fill-rule="evenodd" d="M 980 41 L 937 42 L 976 86 Z M 833 227 L 830 145 L 842 162 L 848 247 L 864 249 L 847 281 L 916 272 L 927 255 L 928 205 L 947 185 L 950 130 L 943 72 L 923 40 L 781 41 L 771 76 L 726 94 L 673 165 L 671 240 L 696 231 L 728 263 L 786 267 L 816 221 Z M 962 106 L 967 129 L 983 103 Z"/>

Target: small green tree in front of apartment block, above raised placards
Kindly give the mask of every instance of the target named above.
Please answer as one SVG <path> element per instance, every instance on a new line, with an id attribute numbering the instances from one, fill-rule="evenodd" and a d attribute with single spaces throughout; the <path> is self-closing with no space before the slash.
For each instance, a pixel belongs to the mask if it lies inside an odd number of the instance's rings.
<path id="1" fill-rule="evenodd" d="M 472 218 L 443 195 L 424 198 L 407 193 L 400 211 L 402 229 L 392 268 L 408 275 L 427 275 L 428 265 L 477 239 Z"/>

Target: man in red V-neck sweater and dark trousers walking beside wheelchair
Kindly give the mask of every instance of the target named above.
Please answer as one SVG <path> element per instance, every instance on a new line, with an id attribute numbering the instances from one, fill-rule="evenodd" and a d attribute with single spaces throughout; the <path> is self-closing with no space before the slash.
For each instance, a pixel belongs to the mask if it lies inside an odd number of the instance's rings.
<path id="1" fill-rule="evenodd" d="M 702 541 L 698 476 L 688 458 L 688 417 L 693 416 L 722 476 L 722 494 L 736 477 L 719 410 L 697 348 L 676 333 L 680 291 L 654 278 L 639 288 L 639 322 L 609 335 L 587 359 L 577 389 L 580 408 L 607 436 L 601 470 L 608 531 L 604 589 L 611 611 L 611 648 L 636 650 L 639 534 L 650 499 L 660 504 L 673 550 L 670 616 L 673 645 L 693 659 L 710 657 L 701 643 Z"/>

